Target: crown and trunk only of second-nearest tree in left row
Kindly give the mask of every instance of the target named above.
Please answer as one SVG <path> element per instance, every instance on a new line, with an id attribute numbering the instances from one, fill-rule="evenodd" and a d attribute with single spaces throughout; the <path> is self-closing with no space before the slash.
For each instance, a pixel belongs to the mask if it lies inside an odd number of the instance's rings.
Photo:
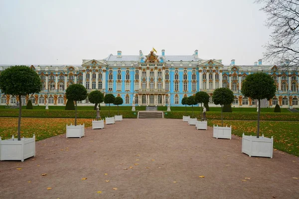
<path id="1" fill-rule="evenodd" d="M 67 101 L 75 101 L 75 126 L 77 126 L 77 101 L 87 98 L 87 90 L 81 84 L 72 84 L 65 91 Z"/>

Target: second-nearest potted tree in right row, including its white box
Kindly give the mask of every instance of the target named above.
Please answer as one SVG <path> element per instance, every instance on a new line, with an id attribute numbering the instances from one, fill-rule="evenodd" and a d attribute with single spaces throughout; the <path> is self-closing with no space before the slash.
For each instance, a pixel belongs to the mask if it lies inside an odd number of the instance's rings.
<path id="1" fill-rule="evenodd" d="M 223 126 L 223 105 L 230 104 L 234 100 L 234 93 L 228 88 L 215 89 L 213 101 L 216 105 L 221 105 L 221 127 L 213 125 L 213 137 L 232 139 L 232 127 Z"/>

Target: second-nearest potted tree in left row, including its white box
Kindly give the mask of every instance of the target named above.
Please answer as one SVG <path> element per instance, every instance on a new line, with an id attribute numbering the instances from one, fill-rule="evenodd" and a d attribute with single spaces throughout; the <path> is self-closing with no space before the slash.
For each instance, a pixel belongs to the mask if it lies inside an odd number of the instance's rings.
<path id="1" fill-rule="evenodd" d="M 83 137 L 84 124 L 77 125 L 77 101 L 87 98 L 87 90 L 81 84 L 72 84 L 65 91 L 66 99 L 75 101 L 75 125 L 66 124 L 66 137 Z"/>

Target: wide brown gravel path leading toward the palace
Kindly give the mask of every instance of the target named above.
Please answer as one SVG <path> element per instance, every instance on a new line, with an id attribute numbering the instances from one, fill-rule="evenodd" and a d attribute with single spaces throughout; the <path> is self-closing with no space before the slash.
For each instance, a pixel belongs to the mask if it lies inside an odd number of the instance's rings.
<path id="1" fill-rule="evenodd" d="M 36 157 L 23 163 L 0 162 L 0 198 L 299 199 L 298 157 L 278 150 L 273 159 L 249 157 L 241 142 L 181 119 L 89 127 L 81 139 L 36 142 Z"/>

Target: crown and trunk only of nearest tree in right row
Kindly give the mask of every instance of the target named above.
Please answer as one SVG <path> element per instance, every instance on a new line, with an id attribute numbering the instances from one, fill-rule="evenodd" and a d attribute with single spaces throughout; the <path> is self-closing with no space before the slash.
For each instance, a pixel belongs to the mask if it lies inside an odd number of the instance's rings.
<path id="1" fill-rule="evenodd" d="M 245 97 L 258 100 L 258 130 L 257 138 L 260 136 L 260 112 L 261 100 L 270 100 L 275 96 L 276 85 L 272 77 L 266 73 L 254 73 L 246 77 L 242 84 L 242 94 Z"/>

